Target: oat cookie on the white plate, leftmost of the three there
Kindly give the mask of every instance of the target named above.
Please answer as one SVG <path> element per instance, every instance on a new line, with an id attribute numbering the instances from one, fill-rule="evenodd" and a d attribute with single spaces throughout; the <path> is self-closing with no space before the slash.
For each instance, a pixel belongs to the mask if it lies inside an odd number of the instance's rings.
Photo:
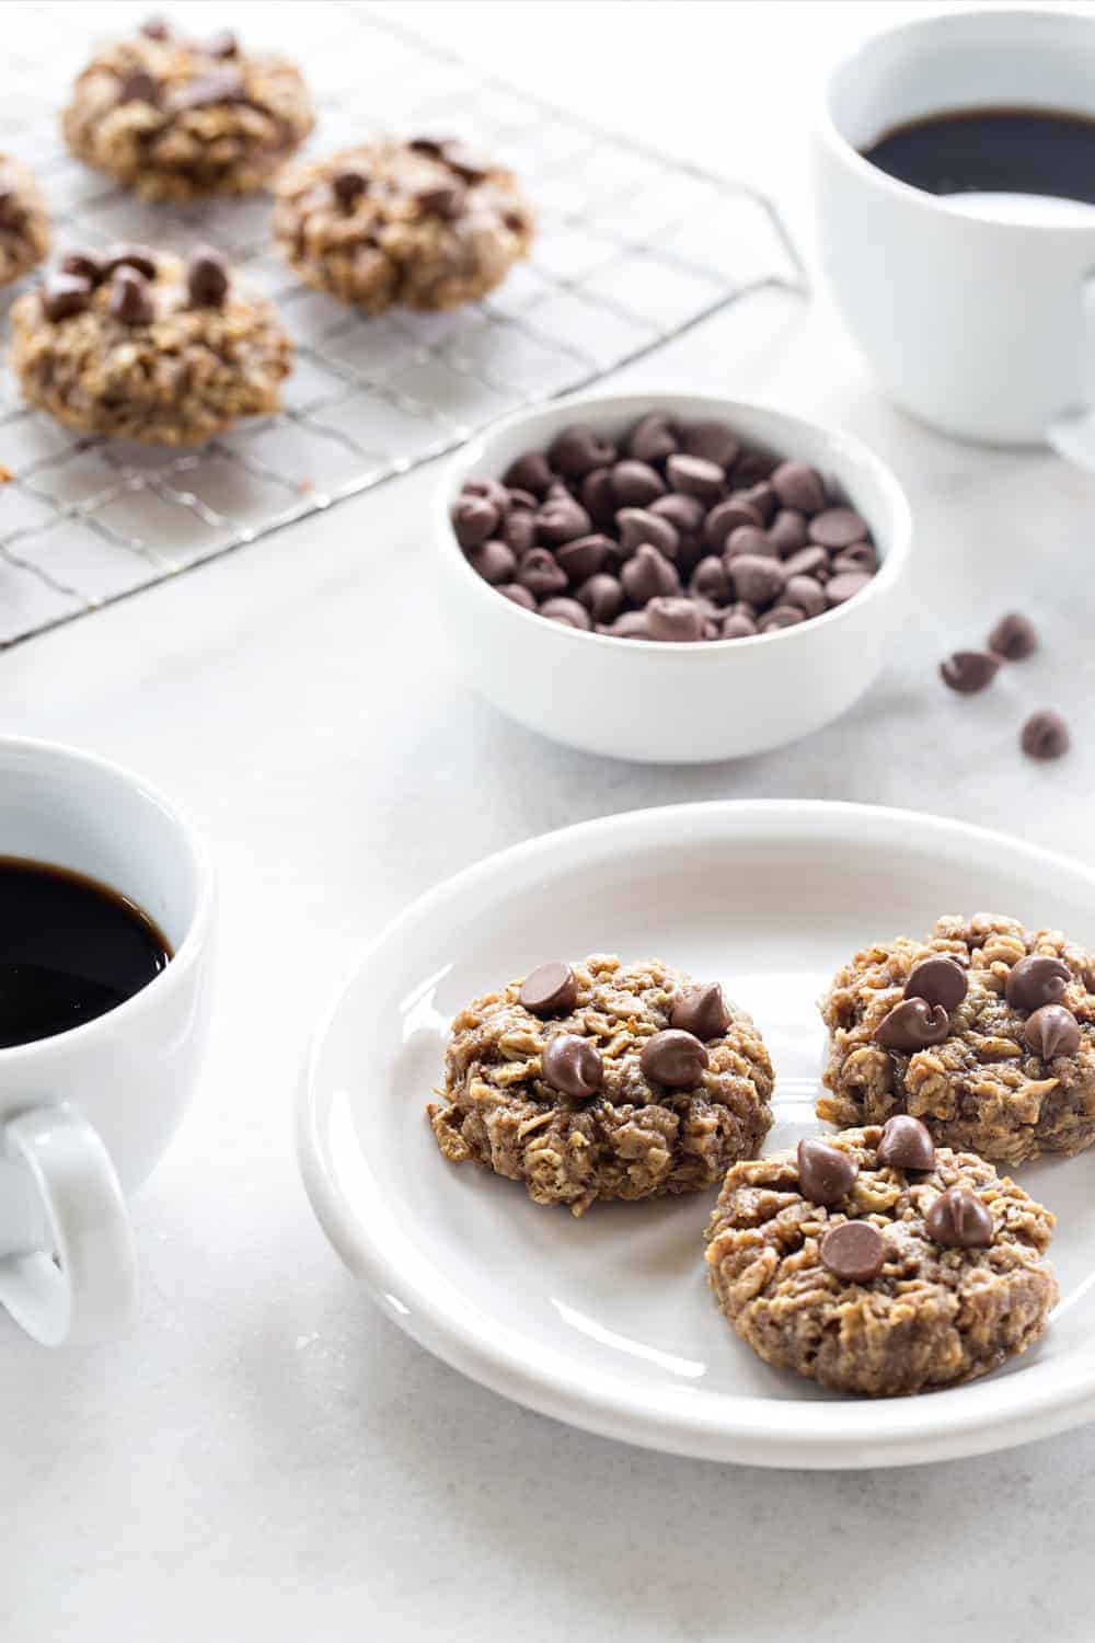
<path id="1" fill-rule="evenodd" d="M 581 1214 L 712 1186 L 772 1125 L 772 1061 L 717 984 L 652 958 L 540 964 L 456 1015 L 428 1107 L 442 1153 Z"/>

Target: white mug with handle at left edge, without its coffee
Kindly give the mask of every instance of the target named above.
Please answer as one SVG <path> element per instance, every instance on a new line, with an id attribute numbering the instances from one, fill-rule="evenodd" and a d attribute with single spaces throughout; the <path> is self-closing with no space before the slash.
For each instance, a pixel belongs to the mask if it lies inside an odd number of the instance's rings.
<path id="1" fill-rule="evenodd" d="M 99 1341 L 135 1300 L 123 1194 L 171 1140 L 205 1038 L 212 872 L 186 822 L 140 777 L 7 736 L 0 856 L 128 895 L 172 950 L 108 1014 L 0 1050 L 0 1303 L 46 1346 Z"/>

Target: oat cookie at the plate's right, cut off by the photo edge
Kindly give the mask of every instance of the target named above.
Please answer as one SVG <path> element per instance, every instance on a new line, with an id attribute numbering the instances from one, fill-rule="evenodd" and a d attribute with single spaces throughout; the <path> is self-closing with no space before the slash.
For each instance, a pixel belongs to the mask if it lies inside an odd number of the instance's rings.
<path id="1" fill-rule="evenodd" d="M 857 953 L 821 1014 L 841 1127 L 891 1112 L 937 1142 L 1021 1163 L 1095 1142 L 1095 960 L 1056 930 L 947 915 L 924 941 Z"/>

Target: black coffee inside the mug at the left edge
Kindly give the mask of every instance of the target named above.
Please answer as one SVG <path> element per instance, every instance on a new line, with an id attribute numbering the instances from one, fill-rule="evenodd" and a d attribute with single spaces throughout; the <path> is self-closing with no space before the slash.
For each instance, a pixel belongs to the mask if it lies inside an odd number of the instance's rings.
<path id="1" fill-rule="evenodd" d="M 171 958 L 135 902 L 66 868 L 0 856 L 0 1048 L 131 999 Z"/>

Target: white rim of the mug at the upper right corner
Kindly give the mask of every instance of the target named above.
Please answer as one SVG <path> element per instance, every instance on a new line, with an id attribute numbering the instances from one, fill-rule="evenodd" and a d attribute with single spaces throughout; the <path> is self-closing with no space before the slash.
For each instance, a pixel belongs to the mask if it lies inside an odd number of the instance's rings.
<path id="1" fill-rule="evenodd" d="M 860 39 L 829 64 L 821 89 L 819 108 L 814 118 L 814 131 L 818 138 L 834 153 L 834 156 L 868 187 L 877 189 L 880 194 L 903 200 L 906 205 L 914 205 L 926 214 L 954 219 L 964 228 L 970 228 L 974 232 L 980 230 L 1008 235 L 1019 233 L 1024 237 L 1034 233 L 1042 237 L 1069 235 L 1070 238 L 1087 237 L 1090 240 L 1095 235 L 1095 223 L 1092 222 L 1041 222 L 1038 219 L 1031 219 L 1029 222 L 1011 222 L 1003 217 L 980 217 L 972 212 L 964 212 L 954 205 L 954 200 L 960 199 L 960 196 L 929 194 L 926 189 L 918 189 L 911 182 L 901 182 L 898 177 L 893 177 L 888 171 L 882 171 L 878 166 L 873 166 L 864 154 L 860 154 L 855 145 L 844 136 L 832 115 L 832 87 L 837 76 L 849 69 L 855 59 L 870 49 L 877 41 L 891 38 L 896 39 L 900 35 L 926 33 L 929 30 L 946 30 L 955 26 L 982 28 L 1005 18 L 1010 21 L 1026 20 L 1042 25 L 1046 21 L 1088 25 L 1092 28 L 1092 41 L 1095 43 L 1095 18 L 1084 12 L 1075 12 L 1069 7 L 1059 5 L 993 7 L 992 10 L 983 12 L 931 12 L 928 16 L 911 16 L 903 23 L 891 23 L 873 30 L 865 39 Z"/>

